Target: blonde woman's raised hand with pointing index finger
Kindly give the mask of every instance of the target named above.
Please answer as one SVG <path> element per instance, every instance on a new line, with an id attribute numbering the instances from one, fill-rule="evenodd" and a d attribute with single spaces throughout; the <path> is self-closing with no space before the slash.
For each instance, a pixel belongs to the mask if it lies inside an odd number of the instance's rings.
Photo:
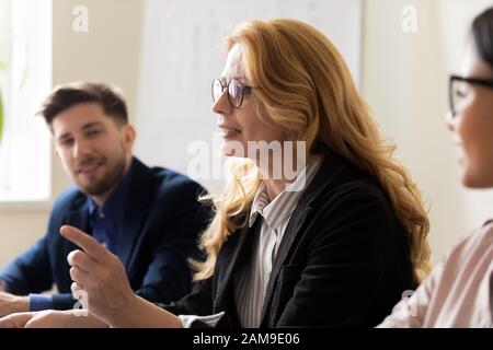
<path id="1" fill-rule="evenodd" d="M 175 315 L 134 293 L 118 257 L 98 241 L 68 225 L 60 233 L 83 249 L 71 252 L 67 259 L 73 295 L 91 315 L 111 327 L 182 326 Z"/>

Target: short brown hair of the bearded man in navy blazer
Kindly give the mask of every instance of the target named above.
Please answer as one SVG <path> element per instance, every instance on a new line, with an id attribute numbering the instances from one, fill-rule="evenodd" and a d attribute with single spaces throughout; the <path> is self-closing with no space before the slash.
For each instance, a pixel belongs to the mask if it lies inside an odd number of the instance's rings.
<path id="1" fill-rule="evenodd" d="M 128 124 L 127 106 L 121 93 L 103 83 L 76 82 L 59 85 L 46 97 L 37 114 L 50 126 L 58 114 L 81 103 L 98 103 L 118 125 Z"/>

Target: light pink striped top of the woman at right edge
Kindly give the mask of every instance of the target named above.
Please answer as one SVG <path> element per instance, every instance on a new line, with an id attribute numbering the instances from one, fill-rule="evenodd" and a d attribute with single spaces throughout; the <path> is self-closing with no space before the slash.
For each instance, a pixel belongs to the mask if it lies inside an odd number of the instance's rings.
<path id="1" fill-rule="evenodd" d="M 493 223 L 460 241 L 378 327 L 493 327 Z"/>

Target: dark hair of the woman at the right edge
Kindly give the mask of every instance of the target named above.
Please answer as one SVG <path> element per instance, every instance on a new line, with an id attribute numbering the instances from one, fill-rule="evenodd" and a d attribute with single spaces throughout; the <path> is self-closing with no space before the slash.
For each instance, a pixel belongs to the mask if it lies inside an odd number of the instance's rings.
<path id="1" fill-rule="evenodd" d="M 478 54 L 493 68 L 493 8 L 483 11 L 474 19 L 471 34 Z"/>

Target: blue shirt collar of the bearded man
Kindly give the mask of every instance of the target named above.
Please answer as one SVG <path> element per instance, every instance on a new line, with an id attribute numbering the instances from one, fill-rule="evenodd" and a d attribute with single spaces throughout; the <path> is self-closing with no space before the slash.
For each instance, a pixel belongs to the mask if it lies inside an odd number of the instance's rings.
<path id="1" fill-rule="evenodd" d="M 119 180 L 116 188 L 113 190 L 113 192 L 110 195 L 110 197 L 106 199 L 106 201 L 103 203 L 103 207 L 100 209 L 100 207 L 92 200 L 91 196 L 88 196 L 88 207 L 89 207 L 89 214 L 91 218 L 93 218 L 94 213 L 100 210 L 100 212 L 110 220 L 114 222 L 122 222 L 124 218 L 124 210 L 125 210 L 125 203 L 127 202 L 127 194 L 130 187 L 130 177 L 131 177 L 131 170 L 133 170 L 131 162 L 130 167 L 128 171 L 124 174 L 122 179 Z"/>

